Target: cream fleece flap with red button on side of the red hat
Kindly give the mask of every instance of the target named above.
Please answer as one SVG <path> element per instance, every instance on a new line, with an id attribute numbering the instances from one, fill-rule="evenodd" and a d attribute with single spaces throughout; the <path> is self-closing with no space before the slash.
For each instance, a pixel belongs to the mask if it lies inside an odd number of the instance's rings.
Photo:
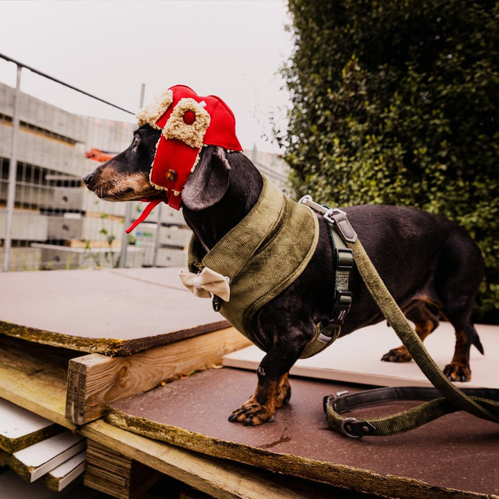
<path id="1" fill-rule="evenodd" d="M 185 123 L 183 119 L 187 111 L 195 114 L 195 120 L 191 125 Z M 192 148 L 200 148 L 209 124 L 210 115 L 202 104 L 193 98 L 182 98 L 170 114 L 163 134 L 166 139 L 178 139 Z"/>

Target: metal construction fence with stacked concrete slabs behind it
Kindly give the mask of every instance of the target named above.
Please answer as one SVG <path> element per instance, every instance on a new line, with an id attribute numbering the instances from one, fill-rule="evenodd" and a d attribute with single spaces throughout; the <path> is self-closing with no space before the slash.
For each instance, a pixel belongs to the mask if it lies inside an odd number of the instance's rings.
<path id="1" fill-rule="evenodd" d="M 181 211 L 159 205 L 132 234 L 125 225 L 140 202 L 99 200 L 82 177 L 128 147 L 134 113 L 87 94 L 0 54 L 0 260 L 7 270 L 184 266 L 191 231 Z M 111 120 L 76 114 L 21 91 L 33 73 L 55 96 L 98 101 Z M 9 78 L 2 78 L 2 80 Z M 139 103 L 137 89 L 137 103 Z M 142 89 L 143 91 L 143 89 Z M 109 109 L 107 109 L 109 108 Z M 286 165 L 275 155 L 247 152 L 278 184 Z"/>

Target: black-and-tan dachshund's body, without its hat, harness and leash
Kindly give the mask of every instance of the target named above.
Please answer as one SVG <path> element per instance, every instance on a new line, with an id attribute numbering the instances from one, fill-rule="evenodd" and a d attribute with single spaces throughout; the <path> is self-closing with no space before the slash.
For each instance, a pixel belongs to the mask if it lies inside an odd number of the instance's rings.
<path id="1" fill-rule="evenodd" d="M 149 177 L 160 134 L 161 130 L 141 125 L 128 149 L 85 176 L 88 189 L 103 200 L 166 201 L 164 191 L 151 186 Z M 241 152 L 202 147 L 182 191 L 187 225 L 206 249 L 213 248 L 254 207 L 262 186 L 259 170 Z M 444 373 L 453 381 L 470 380 L 471 345 L 483 353 L 471 322 L 483 272 L 477 245 L 454 222 L 418 209 L 362 205 L 343 210 L 421 340 L 437 328 L 439 318 L 453 325 L 455 351 Z M 304 271 L 254 316 L 252 326 L 266 355 L 254 395 L 231 413 L 229 421 L 258 425 L 274 418 L 276 409 L 290 399 L 290 367 L 314 338 L 316 325 L 331 315 L 336 264 L 329 225 L 317 217 L 319 240 Z M 349 289 L 353 301 L 340 337 L 383 319 L 355 264 Z M 411 356 L 401 346 L 383 360 L 408 362 Z"/>

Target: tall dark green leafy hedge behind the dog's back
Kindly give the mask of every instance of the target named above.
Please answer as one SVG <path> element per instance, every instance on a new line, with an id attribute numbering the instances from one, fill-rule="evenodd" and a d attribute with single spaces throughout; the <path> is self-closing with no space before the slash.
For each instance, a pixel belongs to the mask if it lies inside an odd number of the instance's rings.
<path id="1" fill-rule="evenodd" d="M 285 147 L 297 195 L 405 204 L 463 225 L 499 323 L 499 3 L 289 0 Z"/>

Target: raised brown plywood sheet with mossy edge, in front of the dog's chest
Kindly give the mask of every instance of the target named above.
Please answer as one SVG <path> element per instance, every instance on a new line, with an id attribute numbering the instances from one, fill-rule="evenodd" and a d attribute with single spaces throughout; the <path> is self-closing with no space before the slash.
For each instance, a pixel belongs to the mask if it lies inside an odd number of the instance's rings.
<path id="1" fill-rule="evenodd" d="M 0 333 L 87 353 L 128 355 L 229 326 L 177 268 L 4 272 Z"/>

